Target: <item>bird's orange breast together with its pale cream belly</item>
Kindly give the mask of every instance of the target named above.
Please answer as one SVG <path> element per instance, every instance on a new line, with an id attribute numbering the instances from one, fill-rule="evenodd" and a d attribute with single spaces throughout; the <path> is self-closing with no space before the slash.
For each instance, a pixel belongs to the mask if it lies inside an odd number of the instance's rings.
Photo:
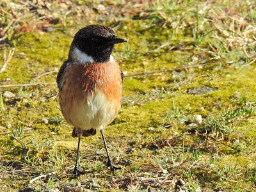
<path id="1" fill-rule="evenodd" d="M 69 124 L 92 129 L 116 117 L 122 97 L 118 63 L 70 64 L 60 82 L 61 112 Z"/>

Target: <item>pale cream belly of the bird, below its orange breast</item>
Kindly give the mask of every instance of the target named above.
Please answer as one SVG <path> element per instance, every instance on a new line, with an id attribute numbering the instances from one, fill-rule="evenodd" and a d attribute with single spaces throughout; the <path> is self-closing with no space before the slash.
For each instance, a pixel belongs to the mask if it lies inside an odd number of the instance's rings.
<path id="1" fill-rule="evenodd" d="M 114 120 L 120 109 L 120 103 L 108 100 L 100 90 L 88 95 L 87 100 L 77 99 L 75 95 L 69 101 L 68 106 L 61 105 L 63 115 L 69 124 L 84 130 L 105 127 Z"/>

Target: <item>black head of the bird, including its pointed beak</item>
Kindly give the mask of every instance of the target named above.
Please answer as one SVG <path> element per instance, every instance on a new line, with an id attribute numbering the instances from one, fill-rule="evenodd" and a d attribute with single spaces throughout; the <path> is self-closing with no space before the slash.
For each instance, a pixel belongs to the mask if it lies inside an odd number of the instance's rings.
<path id="1" fill-rule="evenodd" d="M 80 29 L 73 40 L 76 49 L 97 63 L 109 61 L 114 45 L 122 42 L 126 40 L 117 38 L 112 29 L 99 24 Z"/>

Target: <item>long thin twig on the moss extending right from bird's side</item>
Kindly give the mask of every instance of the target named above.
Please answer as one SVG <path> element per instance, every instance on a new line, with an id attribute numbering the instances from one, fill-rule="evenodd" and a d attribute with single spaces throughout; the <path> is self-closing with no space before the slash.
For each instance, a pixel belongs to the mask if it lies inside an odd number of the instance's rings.
<path id="1" fill-rule="evenodd" d="M 218 61 L 216 61 L 218 62 Z M 183 70 L 188 70 L 188 68 L 196 68 L 196 67 L 206 67 L 206 66 L 209 66 L 209 65 L 213 65 L 215 64 L 216 62 L 213 62 L 213 63 L 205 63 L 205 64 L 200 64 L 200 65 L 191 65 L 191 66 L 186 66 L 186 67 L 179 67 L 179 68 L 171 68 L 171 69 L 166 69 L 166 70 L 155 70 L 155 71 L 150 71 L 150 72 L 143 72 L 143 73 L 140 73 L 140 74 L 128 74 L 126 75 L 125 77 L 133 77 L 133 76 L 145 76 L 145 75 L 148 75 L 148 74 L 157 74 L 157 73 L 163 73 L 163 72 L 180 72 L 180 71 L 183 71 Z M 1 87 L 1 86 L 0 86 Z"/>

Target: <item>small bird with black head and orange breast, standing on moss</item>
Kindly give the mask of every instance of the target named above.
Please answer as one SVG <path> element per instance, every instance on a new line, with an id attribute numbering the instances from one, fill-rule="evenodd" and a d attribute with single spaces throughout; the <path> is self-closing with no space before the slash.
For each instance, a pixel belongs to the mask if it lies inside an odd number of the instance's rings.
<path id="1" fill-rule="evenodd" d="M 74 174 L 79 173 L 77 161 L 81 136 L 92 136 L 99 129 L 111 163 L 104 138 L 104 127 L 113 122 L 121 106 L 124 75 L 111 53 L 115 44 L 126 42 L 102 25 L 80 29 L 70 46 L 68 60 L 57 76 L 60 108 L 68 124 L 74 126 L 72 137 L 78 137 Z"/>

